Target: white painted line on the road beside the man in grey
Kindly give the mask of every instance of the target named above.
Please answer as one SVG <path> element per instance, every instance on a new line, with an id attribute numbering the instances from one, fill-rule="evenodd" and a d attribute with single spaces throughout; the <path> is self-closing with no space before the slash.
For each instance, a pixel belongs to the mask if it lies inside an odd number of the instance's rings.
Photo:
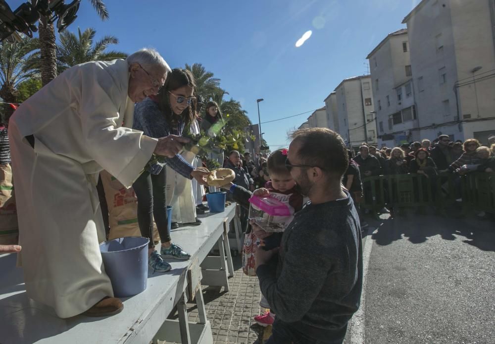
<path id="1" fill-rule="evenodd" d="M 380 224 L 380 226 L 382 226 Z M 378 226 L 378 227 L 380 227 Z M 354 313 L 352 319 L 350 319 L 350 344 L 364 344 L 364 297 L 366 276 L 368 275 L 368 263 L 371 255 L 371 247 L 373 246 L 373 239 L 371 235 L 376 232 L 378 228 L 370 227 L 366 236 L 366 242 L 363 248 L 363 291 L 361 292 L 361 304 L 357 312 Z"/>

